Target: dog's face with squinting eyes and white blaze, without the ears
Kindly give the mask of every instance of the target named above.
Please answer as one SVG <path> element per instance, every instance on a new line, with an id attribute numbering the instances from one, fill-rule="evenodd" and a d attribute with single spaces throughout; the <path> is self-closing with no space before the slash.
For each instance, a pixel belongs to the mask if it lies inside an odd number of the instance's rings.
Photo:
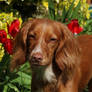
<path id="1" fill-rule="evenodd" d="M 31 65 L 48 65 L 52 62 L 61 33 L 55 24 L 37 23 L 27 35 L 28 60 Z"/>

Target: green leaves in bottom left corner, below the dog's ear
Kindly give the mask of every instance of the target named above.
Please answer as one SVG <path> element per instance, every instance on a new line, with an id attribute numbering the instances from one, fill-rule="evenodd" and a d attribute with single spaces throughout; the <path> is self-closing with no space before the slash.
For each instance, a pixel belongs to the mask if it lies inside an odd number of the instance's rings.
<path id="1" fill-rule="evenodd" d="M 0 62 L 0 91 L 1 92 L 30 92 L 31 73 L 28 62 L 18 72 L 10 72 L 9 63 L 11 56 L 5 54 Z"/>

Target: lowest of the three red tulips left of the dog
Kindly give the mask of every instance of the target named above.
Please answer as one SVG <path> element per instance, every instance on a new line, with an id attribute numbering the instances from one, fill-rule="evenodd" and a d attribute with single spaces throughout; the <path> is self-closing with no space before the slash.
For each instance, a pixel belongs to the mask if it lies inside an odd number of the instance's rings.
<path id="1" fill-rule="evenodd" d="M 9 53 L 12 54 L 13 53 L 13 42 L 11 39 L 6 39 L 5 43 L 4 43 L 4 48 L 5 50 Z"/>

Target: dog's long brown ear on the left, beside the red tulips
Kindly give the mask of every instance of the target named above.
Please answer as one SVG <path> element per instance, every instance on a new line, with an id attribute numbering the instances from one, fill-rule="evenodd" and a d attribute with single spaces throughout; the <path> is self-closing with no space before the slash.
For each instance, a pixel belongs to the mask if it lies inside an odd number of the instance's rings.
<path id="1" fill-rule="evenodd" d="M 22 25 L 18 35 L 14 39 L 13 56 L 10 62 L 10 71 L 26 62 L 26 39 L 29 28 L 33 20 L 29 20 Z"/>

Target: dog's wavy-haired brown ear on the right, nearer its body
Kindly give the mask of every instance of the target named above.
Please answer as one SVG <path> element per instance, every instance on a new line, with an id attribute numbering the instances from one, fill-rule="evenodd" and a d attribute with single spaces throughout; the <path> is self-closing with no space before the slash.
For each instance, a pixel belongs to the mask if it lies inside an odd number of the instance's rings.
<path id="1" fill-rule="evenodd" d="M 70 32 L 66 25 L 57 23 L 61 40 L 56 50 L 56 63 L 60 70 L 71 72 L 78 65 L 80 49 L 76 38 Z"/>

